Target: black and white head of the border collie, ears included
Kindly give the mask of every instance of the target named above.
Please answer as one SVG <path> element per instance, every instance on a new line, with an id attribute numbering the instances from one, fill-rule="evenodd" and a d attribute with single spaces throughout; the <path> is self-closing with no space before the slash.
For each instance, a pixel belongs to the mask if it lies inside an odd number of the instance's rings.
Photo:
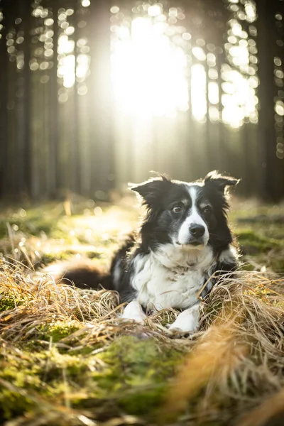
<path id="1" fill-rule="evenodd" d="M 237 182 L 211 172 L 199 182 L 161 177 L 131 187 L 148 209 L 141 229 L 144 243 L 151 248 L 170 243 L 181 250 L 200 250 L 207 244 L 223 249 L 232 241 L 226 220 L 227 188 Z"/>

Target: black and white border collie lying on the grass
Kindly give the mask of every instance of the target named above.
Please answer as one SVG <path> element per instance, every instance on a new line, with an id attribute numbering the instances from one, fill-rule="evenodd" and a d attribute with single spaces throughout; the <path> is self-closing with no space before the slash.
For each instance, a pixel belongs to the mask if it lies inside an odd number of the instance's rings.
<path id="1" fill-rule="evenodd" d="M 237 182 L 214 171 L 197 182 L 160 177 L 131 187 L 147 209 L 138 235 L 119 249 L 109 273 L 73 266 L 63 280 L 80 288 L 102 284 L 116 290 L 121 302 L 128 302 L 123 317 L 129 320 L 143 322 L 146 312 L 164 308 L 182 310 L 169 328 L 194 332 L 198 296 L 238 266 L 226 218 L 226 189 Z"/>

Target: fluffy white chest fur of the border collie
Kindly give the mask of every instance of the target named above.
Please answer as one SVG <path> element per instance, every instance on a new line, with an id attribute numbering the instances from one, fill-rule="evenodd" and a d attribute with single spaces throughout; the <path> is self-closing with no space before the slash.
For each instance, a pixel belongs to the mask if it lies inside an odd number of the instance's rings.
<path id="1" fill-rule="evenodd" d="M 137 256 L 134 261 L 133 288 L 144 307 L 161 310 L 167 307 L 186 309 L 197 302 L 196 293 L 209 278 L 213 264 L 211 249 L 206 249 L 195 262 L 185 256 L 169 268 L 153 253 Z"/>

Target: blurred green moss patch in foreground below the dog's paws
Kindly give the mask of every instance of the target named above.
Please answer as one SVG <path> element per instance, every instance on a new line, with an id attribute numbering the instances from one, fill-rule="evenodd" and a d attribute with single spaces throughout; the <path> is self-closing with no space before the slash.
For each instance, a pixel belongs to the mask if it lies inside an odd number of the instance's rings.
<path id="1" fill-rule="evenodd" d="M 94 374 L 100 398 L 115 398 L 127 413 L 151 413 L 161 402 L 182 353 L 153 339 L 120 337 L 99 354 L 106 367 Z"/>

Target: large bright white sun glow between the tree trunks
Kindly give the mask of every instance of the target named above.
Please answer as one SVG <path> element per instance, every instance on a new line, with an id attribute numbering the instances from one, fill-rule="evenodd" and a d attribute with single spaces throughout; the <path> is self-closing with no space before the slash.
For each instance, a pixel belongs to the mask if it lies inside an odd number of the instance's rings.
<path id="1" fill-rule="evenodd" d="M 155 4 L 131 26 L 111 26 L 114 97 L 127 114 L 175 116 L 189 109 L 187 56 L 170 38 L 174 30 L 166 20 L 162 6 Z"/>

